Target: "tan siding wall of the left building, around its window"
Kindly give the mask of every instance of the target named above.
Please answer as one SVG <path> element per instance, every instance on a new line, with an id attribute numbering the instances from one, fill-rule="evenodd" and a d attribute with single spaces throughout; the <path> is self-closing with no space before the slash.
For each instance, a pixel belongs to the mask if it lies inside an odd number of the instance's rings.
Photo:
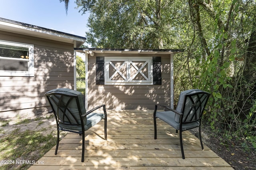
<path id="1" fill-rule="evenodd" d="M 73 44 L 5 31 L 0 39 L 34 45 L 34 77 L 0 75 L 0 118 L 46 111 L 45 92 L 74 88 Z"/>

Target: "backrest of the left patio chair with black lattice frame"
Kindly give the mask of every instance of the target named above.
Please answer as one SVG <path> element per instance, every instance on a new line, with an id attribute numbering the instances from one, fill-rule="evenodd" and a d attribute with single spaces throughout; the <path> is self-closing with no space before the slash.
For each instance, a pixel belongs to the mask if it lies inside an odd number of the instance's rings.
<path id="1" fill-rule="evenodd" d="M 46 92 L 45 95 L 60 127 L 62 125 L 82 126 L 86 124 L 86 117 L 81 121 L 81 115 L 86 113 L 81 92 L 58 88 Z"/>

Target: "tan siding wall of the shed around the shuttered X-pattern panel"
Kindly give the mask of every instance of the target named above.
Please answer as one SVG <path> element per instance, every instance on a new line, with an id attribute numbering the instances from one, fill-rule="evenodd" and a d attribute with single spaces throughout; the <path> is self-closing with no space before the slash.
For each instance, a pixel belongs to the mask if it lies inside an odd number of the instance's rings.
<path id="1" fill-rule="evenodd" d="M 96 85 L 96 57 L 161 57 L 162 85 Z M 106 104 L 107 109 L 154 109 L 170 105 L 170 55 L 95 54 L 88 56 L 88 109 Z"/>

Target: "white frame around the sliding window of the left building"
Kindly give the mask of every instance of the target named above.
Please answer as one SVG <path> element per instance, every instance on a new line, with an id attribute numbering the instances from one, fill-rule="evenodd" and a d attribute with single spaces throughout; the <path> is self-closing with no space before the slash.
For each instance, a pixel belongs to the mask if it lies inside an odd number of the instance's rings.
<path id="1" fill-rule="evenodd" d="M 5 41 L 0 40 L 0 44 L 11 45 L 17 47 L 26 47 L 28 48 L 29 59 L 28 59 L 28 71 L 6 71 L 0 70 L 0 76 L 34 76 L 34 45 L 27 43 L 19 43 L 14 41 Z M 10 58 L 10 57 L 0 57 L 5 60 L 15 60 L 15 61 L 24 61 L 22 59 Z"/>

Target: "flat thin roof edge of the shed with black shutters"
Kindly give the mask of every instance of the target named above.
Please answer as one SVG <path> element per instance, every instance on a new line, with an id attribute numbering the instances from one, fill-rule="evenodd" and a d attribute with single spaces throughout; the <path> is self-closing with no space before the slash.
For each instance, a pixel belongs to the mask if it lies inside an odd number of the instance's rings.
<path id="1" fill-rule="evenodd" d="M 80 53 L 122 53 L 122 54 L 176 54 L 183 49 L 106 49 L 106 48 L 75 48 Z"/>

